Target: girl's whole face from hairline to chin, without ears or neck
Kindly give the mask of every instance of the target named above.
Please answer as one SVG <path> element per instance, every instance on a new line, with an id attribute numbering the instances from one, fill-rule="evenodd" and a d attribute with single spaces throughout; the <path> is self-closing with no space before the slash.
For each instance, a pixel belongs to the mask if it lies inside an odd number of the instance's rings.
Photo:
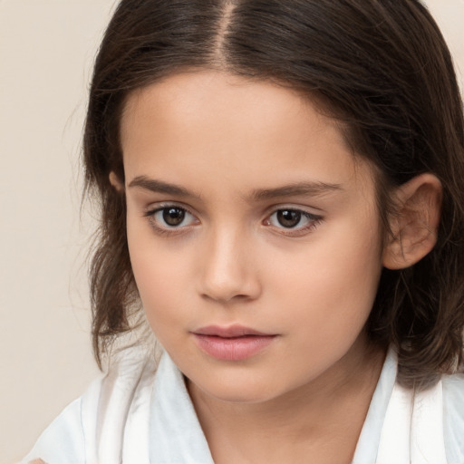
<path id="1" fill-rule="evenodd" d="M 271 83 L 184 73 L 131 95 L 121 144 L 140 297 L 190 382 L 266 401 L 366 351 L 380 221 L 333 121 Z"/>

